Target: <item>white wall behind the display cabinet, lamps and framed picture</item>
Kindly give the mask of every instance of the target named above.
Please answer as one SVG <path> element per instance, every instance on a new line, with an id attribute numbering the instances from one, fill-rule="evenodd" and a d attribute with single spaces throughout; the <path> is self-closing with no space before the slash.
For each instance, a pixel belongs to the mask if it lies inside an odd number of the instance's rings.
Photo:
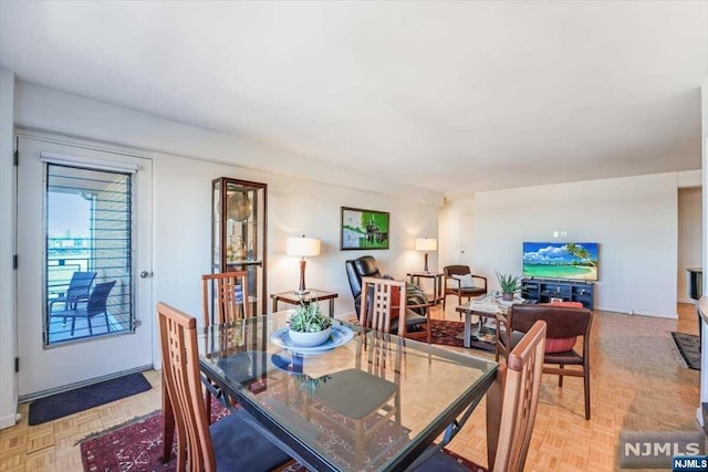
<path id="1" fill-rule="evenodd" d="M 358 191 L 315 181 L 194 159 L 157 156 L 155 175 L 155 301 L 166 301 L 200 314 L 199 275 L 209 272 L 210 182 L 221 176 L 268 183 L 268 292 L 294 290 L 300 280 L 296 258 L 285 255 L 285 239 L 306 234 L 322 240 L 322 253 L 309 258 L 309 287 L 334 291 L 337 317 L 354 314 L 344 261 L 374 255 L 385 272 L 404 279 L 423 268 L 415 238 L 436 234 L 436 204 Z M 340 251 L 340 207 L 356 206 L 391 212 L 391 249 Z M 435 253 L 430 263 L 437 264 Z M 270 311 L 270 301 L 267 303 Z M 282 305 L 281 305 L 282 306 Z M 324 306 L 326 308 L 326 306 Z"/>

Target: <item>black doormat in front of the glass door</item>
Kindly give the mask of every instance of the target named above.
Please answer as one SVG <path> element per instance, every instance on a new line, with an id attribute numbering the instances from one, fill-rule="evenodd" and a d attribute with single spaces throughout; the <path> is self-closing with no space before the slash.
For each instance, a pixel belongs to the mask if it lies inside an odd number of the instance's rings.
<path id="1" fill-rule="evenodd" d="M 152 387 L 145 376 L 137 373 L 40 398 L 30 403 L 29 422 L 30 426 L 42 424 L 149 390 Z"/>

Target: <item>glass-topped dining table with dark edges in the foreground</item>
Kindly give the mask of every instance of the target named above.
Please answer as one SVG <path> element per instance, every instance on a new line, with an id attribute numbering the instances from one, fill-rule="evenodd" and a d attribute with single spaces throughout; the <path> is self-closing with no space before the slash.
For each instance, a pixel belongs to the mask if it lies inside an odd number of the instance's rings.
<path id="1" fill-rule="evenodd" d="M 417 466 L 497 374 L 492 360 L 337 319 L 323 346 L 298 348 L 290 313 L 202 328 L 200 370 L 311 470 Z"/>

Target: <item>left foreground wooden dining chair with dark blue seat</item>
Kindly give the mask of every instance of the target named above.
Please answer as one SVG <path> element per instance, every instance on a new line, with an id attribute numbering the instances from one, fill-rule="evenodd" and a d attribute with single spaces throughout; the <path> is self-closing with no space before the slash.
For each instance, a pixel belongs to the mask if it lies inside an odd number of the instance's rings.
<path id="1" fill-rule="evenodd" d="M 177 430 L 177 471 L 270 471 L 291 461 L 243 409 L 209 427 L 201 395 L 197 319 L 157 304 L 164 381 Z M 187 468 L 188 466 L 188 468 Z"/>

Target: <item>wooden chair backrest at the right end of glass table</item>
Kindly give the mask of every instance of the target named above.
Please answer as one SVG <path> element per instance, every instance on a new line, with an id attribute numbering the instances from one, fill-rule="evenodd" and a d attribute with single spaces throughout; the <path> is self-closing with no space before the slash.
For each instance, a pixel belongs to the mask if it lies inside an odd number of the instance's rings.
<path id="1" fill-rule="evenodd" d="M 490 471 L 523 471 L 539 406 L 545 329 L 545 322 L 539 321 L 528 331 L 487 394 Z"/>

